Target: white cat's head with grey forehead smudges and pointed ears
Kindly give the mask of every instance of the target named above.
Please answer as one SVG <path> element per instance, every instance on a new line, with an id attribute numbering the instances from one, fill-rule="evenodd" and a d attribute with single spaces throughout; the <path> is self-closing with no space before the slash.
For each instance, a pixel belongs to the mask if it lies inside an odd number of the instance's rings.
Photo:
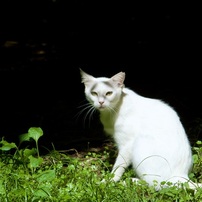
<path id="1" fill-rule="evenodd" d="M 125 73 L 119 72 L 111 78 L 93 77 L 80 69 L 81 81 L 85 85 L 87 100 L 99 111 L 114 109 L 120 101 Z"/>

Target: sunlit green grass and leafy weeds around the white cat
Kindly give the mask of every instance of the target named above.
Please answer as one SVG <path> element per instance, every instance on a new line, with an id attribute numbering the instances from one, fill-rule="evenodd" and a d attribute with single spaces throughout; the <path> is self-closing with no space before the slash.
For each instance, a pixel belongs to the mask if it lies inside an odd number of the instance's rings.
<path id="1" fill-rule="evenodd" d="M 145 182 L 132 183 L 132 169 L 124 173 L 123 181 L 110 181 L 116 149 L 109 144 L 99 149 L 77 151 L 52 150 L 40 155 L 38 140 L 41 128 L 32 127 L 20 136 L 20 145 L 0 141 L 0 202 L 165 202 L 201 201 L 202 190 L 194 193 L 175 187 L 156 191 Z M 35 142 L 33 148 L 21 148 L 21 143 Z M 193 147 L 193 181 L 202 181 L 202 142 Z M 105 179 L 105 182 L 101 182 Z"/>

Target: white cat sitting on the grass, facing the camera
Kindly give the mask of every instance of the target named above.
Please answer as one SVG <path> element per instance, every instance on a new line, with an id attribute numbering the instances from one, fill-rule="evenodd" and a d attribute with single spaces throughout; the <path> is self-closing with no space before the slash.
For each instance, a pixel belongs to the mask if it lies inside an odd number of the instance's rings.
<path id="1" fill-rule="evenodd" d="M 191 146 L 172 107 L 126 88 L 124 72 L 111 78 L 95 78 L 81 69 L 80 73 L 91 105 L 89 111 L 100 112 L 104 131 L 113 135 L 118 147 L 112 169 L 114 181 L 120 180 L 132 164 L 137 177 L 150 186 L 154 181 L 159 185 L 166 181 L 188 182 L 190 188 L 197 187 L 188 177 L 192 168 Z"/>

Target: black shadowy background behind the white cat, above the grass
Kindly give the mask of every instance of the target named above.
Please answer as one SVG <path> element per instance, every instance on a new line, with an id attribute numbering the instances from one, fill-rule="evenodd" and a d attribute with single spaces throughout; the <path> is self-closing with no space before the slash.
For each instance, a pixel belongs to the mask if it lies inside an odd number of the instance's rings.
<path id="1" fill-rule="evenodd" d="M 85 99 L 79 68 L 126 72 L 126 86 L 162 99 L 200 139 L 199 5 L 170 1 L 29 0 L 0 3 L 0 137 L 41 127 L 41 145 L 83 149 L 103 140 L 95 119 L 75 117 Z M 196 132 L 190 132 L 196 128 Z"/>

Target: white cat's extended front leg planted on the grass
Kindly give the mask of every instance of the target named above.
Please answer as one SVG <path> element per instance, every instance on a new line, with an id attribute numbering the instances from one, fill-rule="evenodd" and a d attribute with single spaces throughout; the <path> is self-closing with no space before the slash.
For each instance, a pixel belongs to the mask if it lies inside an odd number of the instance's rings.
<path id="1" fill-rule="evenodd" d="M 112 169 L 114 174 L 113 181 L 117 182 L 125 172 L 125 169 L 131 164 L 131 154 L 127 151 L 128 148 L 123 148 L 119 151 L 115 164 Z"/>

